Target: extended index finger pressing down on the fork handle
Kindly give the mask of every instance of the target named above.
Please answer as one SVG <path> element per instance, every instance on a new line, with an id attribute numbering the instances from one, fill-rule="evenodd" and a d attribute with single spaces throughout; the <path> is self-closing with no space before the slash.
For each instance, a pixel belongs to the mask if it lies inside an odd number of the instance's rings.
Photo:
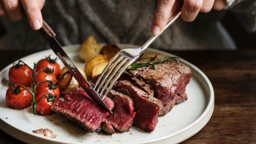
<path id="1" fill-rule="evenodd" d="M 153 35 L 160 35 L 171 15 L 175 1 L 172 0 L 158 0 L 157 8 L 151 24 L 151 33 Z"/>

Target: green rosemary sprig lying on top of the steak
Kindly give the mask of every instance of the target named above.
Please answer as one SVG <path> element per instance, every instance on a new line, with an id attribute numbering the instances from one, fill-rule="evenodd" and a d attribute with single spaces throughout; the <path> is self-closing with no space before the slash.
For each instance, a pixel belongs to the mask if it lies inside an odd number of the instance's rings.
<path id="1" fill-rule="evenodd" d="M 142 57 L 142 55 L 139 57 L 139 59 Z M 156 56 L 154 58 L 148 60 L 148 61 L 145 61 L 145 62 L 133 63 L 126 70 L 137 70 L 136 68 L 142 67 L 142 66 L 152 66 L 154 68 L 154 70 L 155 70 L 156 68 L 155 68 L 154 65 L 156 65 L 158 63 L 162 63 L 162 62 L 167 61 L 167 60 L 174 60 L 176 62 L 179 62 L 178 61 L 178 59 L 179 59 L 178 57 L 163 57 L 162 56 L 162 58 L 157 60 L 157 61 L 154 61 L 155 59 L 156 59 Z"/>

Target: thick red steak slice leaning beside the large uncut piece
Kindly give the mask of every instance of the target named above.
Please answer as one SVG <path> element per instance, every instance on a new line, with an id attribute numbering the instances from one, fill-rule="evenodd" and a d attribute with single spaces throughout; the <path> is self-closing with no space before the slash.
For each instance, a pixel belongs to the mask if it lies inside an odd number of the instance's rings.
<path id="1" fill-rule="evenodd" d="M 134 86 L 130 81 L 118 81 L 113 89 L 129 95 L 134 101 L 135 117 L 133 125 L 145 131 L 154 131 L 158 123 L 158 115 L 163 109 L 163 103 L 149 96 L 146 92 Z"/>

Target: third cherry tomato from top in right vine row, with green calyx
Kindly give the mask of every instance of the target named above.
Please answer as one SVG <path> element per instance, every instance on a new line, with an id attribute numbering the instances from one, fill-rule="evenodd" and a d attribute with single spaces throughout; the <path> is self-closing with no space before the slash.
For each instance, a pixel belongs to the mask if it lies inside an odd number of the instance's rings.
<path id="1" fill-rule="evenodd" d="M 60 97 L 60 89 L 57 86 L 57 82 L 47 82 L 47 85 L 45 84 L 40 84 L 36 87 L 35 90 L 35 96 L 37 96 L 39 93 L 51 93 L 53 96 L 56 95 L 55 99 L 59 99 Z"/>

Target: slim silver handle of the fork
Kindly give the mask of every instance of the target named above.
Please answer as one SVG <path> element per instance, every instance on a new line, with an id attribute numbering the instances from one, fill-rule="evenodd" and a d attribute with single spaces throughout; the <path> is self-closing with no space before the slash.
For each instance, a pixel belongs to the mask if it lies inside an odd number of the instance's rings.
<path id="1" fill-rule="evenodd" d="M 174 23 L 178 18 L 179 18 L 179 16 L 180 16 L 180 14 L 181 14 L 181 8 L 182 8 L 182 5 L 176 10 L 176 12 L 171 16 L 171 18 L 169 19 L 169 21 L 167 22 L 167 25 L 165 26 L 165 28 L 164 28 L 164 31 L 172 24 L 172 23 Z M 163 31 L 163 32 L 164 32 Z M 161 35 L 161 34 L 160 34 Z M 142 46 L 141 46 L 141 51 L 140 51 L 140 53 L 141 52 L 143 52 L 145 49 L 147 49 L 148 47 L 149 47 L 149 45 L 150 44 L 152 44 L 155 40 L 156 40 L 156 38 L 158 38 L 160 35 L 158 35 L 158 36 L 151 36 L 149 39 L 148 39 L 148 41 L 145 43 L 145 44 L 143 44 Z"/>

